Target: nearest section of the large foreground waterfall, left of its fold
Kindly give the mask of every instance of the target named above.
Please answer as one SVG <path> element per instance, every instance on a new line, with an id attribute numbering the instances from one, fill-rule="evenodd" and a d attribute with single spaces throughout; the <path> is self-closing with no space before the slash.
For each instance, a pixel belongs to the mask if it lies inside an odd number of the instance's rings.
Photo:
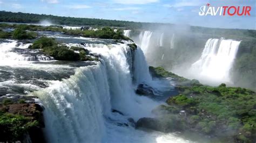
<path id="1" fill-rule="evenodd" d="M 34 93 L 45 106 L 49 142 L 102 142 L 104 115 L 111 111 L 105 70 L 80 67 L 68 80 Z"/>

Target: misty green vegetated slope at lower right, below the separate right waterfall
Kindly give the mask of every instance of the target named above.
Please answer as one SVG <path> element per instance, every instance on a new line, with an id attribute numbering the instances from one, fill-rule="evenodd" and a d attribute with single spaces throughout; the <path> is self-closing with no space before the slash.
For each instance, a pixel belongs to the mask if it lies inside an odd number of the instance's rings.
<path id="1" fill-rule="evenodd" d="M 162 68 L 150 67 L 151 71 L 158 71 L 157 76 L 173 76 L 172 73 Z M 160 71 L 159 71 L 160 70 Z M 174 75 L 175 77 L 177 75 Z M 184 80 L 183 77 L 176 77 Z M 187 80 L 188 81 L 188 80 Z M 193 81 L 193 80 L 192 80 Z M 154 109 L 164 113 L 164 120 L 169 120 L 167 115 L 178 115 L 184 110 L 185 117 L 182 126 L 184 130 L 197 131 L 203 134 L 211 134 L 221 140 L 234 142 L 255 142 L 256 138 L 256 94 L 245 88 L 226 87 L 220 84 L 211 87 L 203 84 L 176 85 L 178 96 L 167 99 L 166 105 L 160 105 Z M 163 119 L 162 119 L 163 120 Z M 170 119 L 169 122 L 173 120 Z"/>

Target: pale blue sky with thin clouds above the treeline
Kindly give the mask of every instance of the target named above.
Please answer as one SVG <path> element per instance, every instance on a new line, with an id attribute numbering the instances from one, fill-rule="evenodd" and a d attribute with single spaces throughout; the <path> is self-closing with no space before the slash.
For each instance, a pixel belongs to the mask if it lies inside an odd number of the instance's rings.
<path id="1" fill-rule="evenodd" d="M 199 8 L 251 6 L 251 16 L 199 16 Z M 0 0 L 0 10 L 56 16 L 256 29 L 256 0 Z"/>

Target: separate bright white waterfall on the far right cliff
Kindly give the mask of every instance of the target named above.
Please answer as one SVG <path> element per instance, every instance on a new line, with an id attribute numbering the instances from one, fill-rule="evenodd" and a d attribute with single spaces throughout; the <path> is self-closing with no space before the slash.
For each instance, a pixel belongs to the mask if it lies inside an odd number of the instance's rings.
<path id="1" fill-rule="evenodd" d="M 201 58 L 193 63 L 192 73 L 213 82 L 231 82 L 230 69 L 238 51 L 240 41 L 208 39 Z"/>

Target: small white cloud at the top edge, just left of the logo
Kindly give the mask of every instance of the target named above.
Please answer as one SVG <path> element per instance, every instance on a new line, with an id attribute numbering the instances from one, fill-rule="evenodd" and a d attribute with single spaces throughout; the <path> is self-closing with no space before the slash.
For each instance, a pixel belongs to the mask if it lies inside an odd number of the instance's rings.
<path id="1" fill-rule="evenodd" d="M 174 2 L 173 4 L 164 4 L 164 6 L 167 8 L 181 8 L 181 7 L 185 7 L 185 6 L 200 6 L 204 3 L 205 2 L 202 2 L 199 0 L 191 0 L 191 1 L 180 0 L 180 1 Z"/>

